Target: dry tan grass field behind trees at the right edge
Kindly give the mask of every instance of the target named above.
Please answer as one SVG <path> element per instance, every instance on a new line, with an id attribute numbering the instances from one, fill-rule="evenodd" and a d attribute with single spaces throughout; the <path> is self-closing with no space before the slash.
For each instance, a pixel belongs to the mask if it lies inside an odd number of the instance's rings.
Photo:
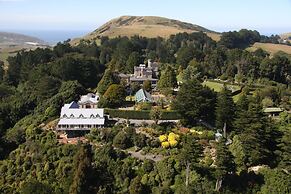
<path id="1" fill-rule="evenodd" d="M 272 43 L 259 43 L 256 42 L 252 47 L 247 48 L 249 51 L 255 51 L 258 48 L 261 48 L 267 52 L 269 52 L 271 55 L 274 55 L 275 53 L 279 51 L 283 51 L 287 54 L 291 54 L 291 46 L 283 45 L 283 44 L 272 44 Z"/>

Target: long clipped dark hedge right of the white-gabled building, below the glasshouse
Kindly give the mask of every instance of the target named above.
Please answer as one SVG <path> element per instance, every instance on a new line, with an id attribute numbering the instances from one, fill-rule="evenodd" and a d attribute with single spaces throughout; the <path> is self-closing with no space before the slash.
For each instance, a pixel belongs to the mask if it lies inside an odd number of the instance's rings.
<path id="1" fill-rule="evenodd" d="M 105 108 L 105 114 L 109 114 L 113 118 L 124 118 L 124 119 L 141 119 L 150 120 L 149 110 L 119 110 Z M 161 120 L 178 120 L 181 116 L 176 111 L 163 111 Z"/>

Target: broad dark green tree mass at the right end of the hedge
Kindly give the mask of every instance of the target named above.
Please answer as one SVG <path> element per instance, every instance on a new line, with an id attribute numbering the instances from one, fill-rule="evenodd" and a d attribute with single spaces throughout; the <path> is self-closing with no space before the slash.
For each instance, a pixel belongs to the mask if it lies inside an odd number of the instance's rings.
<path id="1" fill-rule="evenodd" d="M 215 102 L 216 94 L 193 79 L 183 83 L 173 105 L 184 122 L 193 125 L 199 119 L 213 122 Z"/>

